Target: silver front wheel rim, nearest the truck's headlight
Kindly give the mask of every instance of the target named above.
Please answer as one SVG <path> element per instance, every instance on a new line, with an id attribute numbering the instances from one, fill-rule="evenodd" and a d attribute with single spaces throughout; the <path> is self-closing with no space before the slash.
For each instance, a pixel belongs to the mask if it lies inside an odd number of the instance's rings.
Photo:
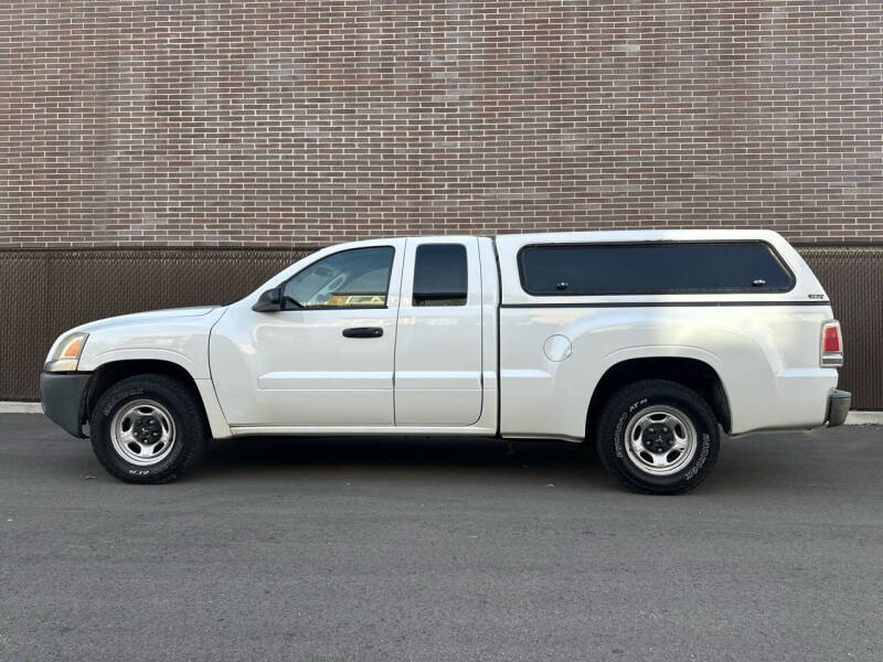
<path id="1" fill-rule="evenodd" d="M 156 465 L 174 448 L 174 419 L 156 401 L 127 403 L 110 421 L 110 440 L 127 462 L 139 467 Z"/>

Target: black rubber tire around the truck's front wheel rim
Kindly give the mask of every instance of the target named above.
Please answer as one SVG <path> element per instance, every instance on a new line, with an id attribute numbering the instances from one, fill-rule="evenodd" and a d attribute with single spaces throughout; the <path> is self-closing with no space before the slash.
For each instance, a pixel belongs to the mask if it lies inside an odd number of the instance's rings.
<path id="1" fill-rule="evenodd" d="M 137 402 L 158 404 L 164 409 L 161 417 L 164 418 L 167 413 L 173 425 L 173 444 L 169 445 L 170 449 L 166 451 L 168 455 L 156 463 L 146 466 L 128 461 L 115 448 L 111 437 L 111 426 L 117 414 L 124 417 L 127 405 L 132 407 Z M 149 407 L 145 410 L 149 410 Z M 162 426 L 157 429 L 161 431 Z M 199 463 L 209 437 L 205 415 L 196 395 L 178 380 L 159 374 L 127 377 L 105 391 L 92 412 L 89 436 L 95 457 L 107 472 L 129 483 L 164 483 L 175 480 Z M 134 447 L 138 448 L 138 445 Z"/>

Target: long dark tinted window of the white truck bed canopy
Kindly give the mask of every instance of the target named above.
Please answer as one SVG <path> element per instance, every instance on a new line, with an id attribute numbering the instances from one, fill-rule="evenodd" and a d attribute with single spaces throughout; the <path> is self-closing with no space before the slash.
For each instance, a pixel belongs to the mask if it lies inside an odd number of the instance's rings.
<path id="1" fill-rule="evenodd" d="M 536 296 L 784 292 L 794 276 L 764 242 L 571 244 L 519 253 Z"/>

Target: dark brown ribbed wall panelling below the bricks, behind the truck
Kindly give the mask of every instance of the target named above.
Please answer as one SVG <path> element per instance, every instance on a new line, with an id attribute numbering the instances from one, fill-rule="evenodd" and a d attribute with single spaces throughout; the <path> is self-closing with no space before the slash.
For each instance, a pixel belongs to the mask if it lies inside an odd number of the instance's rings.
<path id="1" fill-rule="evenodd" d="M 883 246 L 800 247 L 843 323 L 841 385 L 883 409 Z M 220 303 L 305 255 L 298 249 L 0 250 L 0 399 L 36 399 L 58 333 L 114 314 Z"/>

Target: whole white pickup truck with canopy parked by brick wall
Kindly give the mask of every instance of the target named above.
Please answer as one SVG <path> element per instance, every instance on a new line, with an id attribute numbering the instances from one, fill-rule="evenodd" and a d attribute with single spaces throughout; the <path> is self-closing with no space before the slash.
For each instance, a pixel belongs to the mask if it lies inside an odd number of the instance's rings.
<path id="1" fill-rule="evenodd" d="M 711 471 L 722 430 L 843 423 L 840 325 L 778 234 L 636 231 L 325 248 L 227 306 L 72 329 L 43 409 L 129 482 L 211 437 L 476 435 L 595 444 L 632 489 Z"/>

